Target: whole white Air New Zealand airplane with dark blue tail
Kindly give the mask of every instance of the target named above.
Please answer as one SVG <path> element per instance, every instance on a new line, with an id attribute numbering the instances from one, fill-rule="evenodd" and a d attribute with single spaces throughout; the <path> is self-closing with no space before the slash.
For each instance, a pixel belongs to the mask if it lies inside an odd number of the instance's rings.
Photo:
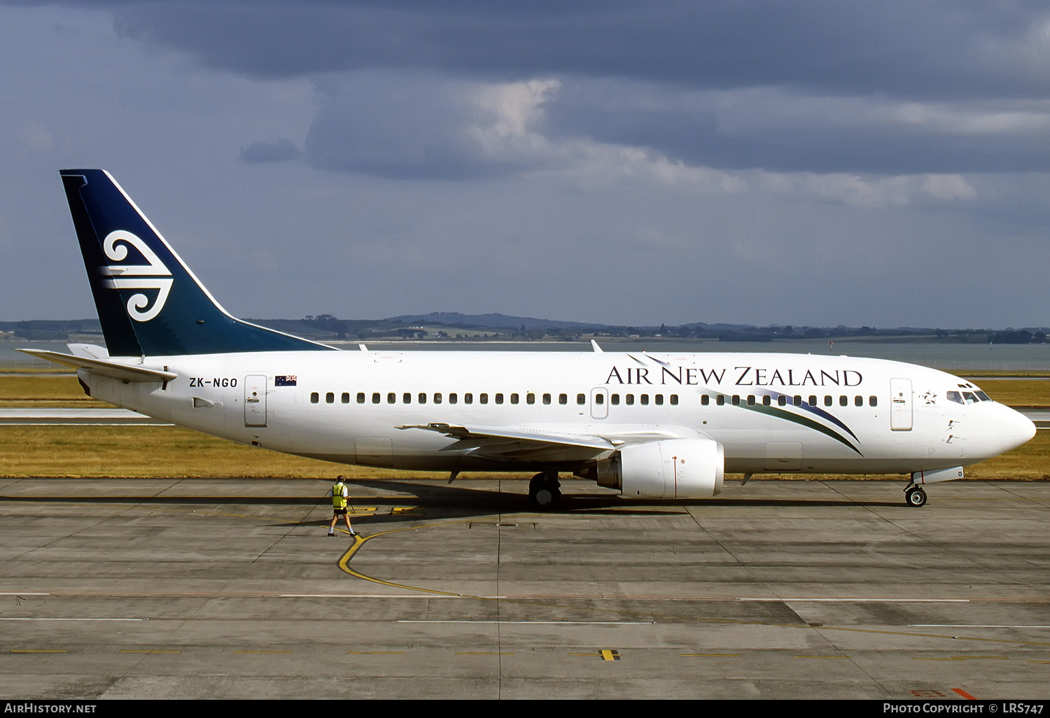
<path id="1" fill-rule="evenodd" d="M 622 497 L 721 492 L 726 473 L 906 474 L 926 484 L 1035 435 L 944 372 L 880 359 L 743 353 L 340 351 L 232 317 L 100 169 L 61 171 L 105 347 L 22 350 L 86 394 L 276 451 L 396 469 L 536 471 Z"/>

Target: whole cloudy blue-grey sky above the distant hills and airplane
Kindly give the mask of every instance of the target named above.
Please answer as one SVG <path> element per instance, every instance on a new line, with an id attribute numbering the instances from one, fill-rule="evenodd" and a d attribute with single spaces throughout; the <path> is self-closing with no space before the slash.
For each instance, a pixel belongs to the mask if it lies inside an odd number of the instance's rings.
<path id="1" fill-rule="evenodd" d="M 0 319 L 109 170 L 234 315 L 1050 324 L 1043 0 L 0 0 Z"/>

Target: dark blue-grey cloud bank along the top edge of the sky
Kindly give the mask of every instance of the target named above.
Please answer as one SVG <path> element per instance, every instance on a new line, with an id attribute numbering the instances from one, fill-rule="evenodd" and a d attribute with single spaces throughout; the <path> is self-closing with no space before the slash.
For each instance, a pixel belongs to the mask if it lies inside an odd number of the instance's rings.
<path id="1" fill-rule="evenodd" d="M 1048 12 L 1034 0 L 113 6 L 124 37 L 257 77 L 426 68 L 472 78 L 568 73 L 949 99 L 1045 97 L 1050 89 L 1047 58 L 1029 48 Z"/>

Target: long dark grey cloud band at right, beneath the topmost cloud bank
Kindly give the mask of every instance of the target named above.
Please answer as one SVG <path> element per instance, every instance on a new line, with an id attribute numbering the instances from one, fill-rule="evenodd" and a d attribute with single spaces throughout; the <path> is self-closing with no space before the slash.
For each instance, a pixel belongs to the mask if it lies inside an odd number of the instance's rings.
<path id="1" fill-rule="evenodd" d="M 884 98 L 827 103 L 782 91 L 738 103 L 724 94 L 690 99 L 664 88 L 604 85 L 564 87 L 545 107 L 551 136 L 651 147 L 722 169 L 908 174 L 1050 167 L 1050 105 L 930 108 Z"/>

